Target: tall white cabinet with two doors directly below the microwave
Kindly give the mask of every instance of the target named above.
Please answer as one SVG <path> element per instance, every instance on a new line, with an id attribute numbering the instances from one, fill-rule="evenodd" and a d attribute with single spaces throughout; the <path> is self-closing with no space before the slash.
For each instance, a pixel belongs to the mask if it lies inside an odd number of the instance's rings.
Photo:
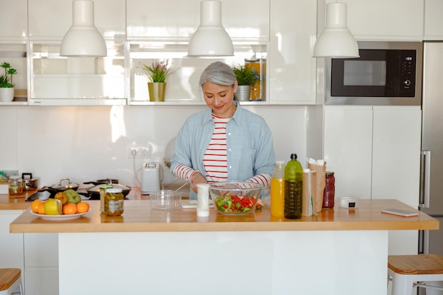
<path id="1" fill-rule="evenodd" d="M 398 199 L 418 208 L 421 110 L 417 106 L 326 106 L 324 158 L 335 195 Z M 417 231 L 390 231 L 389 254 L 417 254 Z"/>

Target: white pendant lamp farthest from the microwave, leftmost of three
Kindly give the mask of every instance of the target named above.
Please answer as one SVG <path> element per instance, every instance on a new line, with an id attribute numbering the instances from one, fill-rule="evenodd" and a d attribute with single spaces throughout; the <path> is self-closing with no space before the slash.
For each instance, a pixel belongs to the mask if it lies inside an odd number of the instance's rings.
<path id="1" fill-rule="evenodd" d="M 94 25 L 94 2 L 72 1 L 72 25 L 64 35 L 62 57 L 105 57 L 106 43 Z"/>

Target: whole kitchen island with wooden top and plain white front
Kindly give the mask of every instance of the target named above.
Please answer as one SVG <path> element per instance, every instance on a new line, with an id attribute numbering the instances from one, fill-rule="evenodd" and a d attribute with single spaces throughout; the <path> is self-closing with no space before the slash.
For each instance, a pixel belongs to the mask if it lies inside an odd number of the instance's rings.
<path id="1" fill-rule="evenodd" d="M 395 199 L 362 199 L 299 220 L 264 207 L 226 216 L 212 209 L 171 212 L 149 200 L 125 201 L 122 216 L 99 202 L 71 221 L 45 221 L 29 209 L 11 233 L 58 233 L 59 294 L 386 294 L 388 231 L 438 229 Z"/>

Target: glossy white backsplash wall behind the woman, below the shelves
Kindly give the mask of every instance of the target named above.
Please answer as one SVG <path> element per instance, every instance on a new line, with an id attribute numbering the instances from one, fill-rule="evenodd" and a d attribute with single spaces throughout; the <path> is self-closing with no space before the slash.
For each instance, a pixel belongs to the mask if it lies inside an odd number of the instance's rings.
<path id="1" fill-rule="evenodd" d="M 0 139 L 0 170 L 33 173 L 39 185 L 54 185 L 61 178 L 74 183 L 117 178 L 139 186 L 134 178 L 144 159 L 127 158 L 127 146 L 151 146 L 149 161 L 161 163 L 163 183 L 175 177 L 163 166 L 173 153 L 178 129 L 199 106 L 80 106 L 0 107 L 3 132 Z M 243 106 L 267 121 L 274 137 L 277 160 L 288 161 L 297 153 L 306 158 L 306 107 Z M 138 174 L 141 179 L 141 171 Z"/>

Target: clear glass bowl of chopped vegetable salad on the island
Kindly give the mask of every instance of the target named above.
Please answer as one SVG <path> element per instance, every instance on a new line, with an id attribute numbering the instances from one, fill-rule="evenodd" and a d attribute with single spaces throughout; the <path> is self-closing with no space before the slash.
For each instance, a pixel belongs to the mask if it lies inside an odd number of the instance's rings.
<path id="1" fill-rule="evenodd" d="M 209 195 L 217 212 L 243 215 L 255 212 L 263 186 L 246 181 L 211 183 Z"/>

